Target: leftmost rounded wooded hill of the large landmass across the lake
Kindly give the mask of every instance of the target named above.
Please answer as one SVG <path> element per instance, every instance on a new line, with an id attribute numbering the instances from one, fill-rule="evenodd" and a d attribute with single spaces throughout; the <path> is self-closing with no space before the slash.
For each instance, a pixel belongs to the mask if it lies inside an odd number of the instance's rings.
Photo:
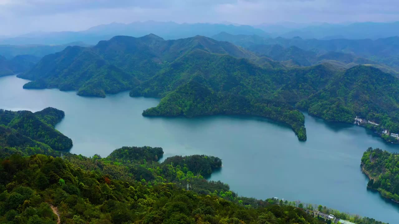
<path id="1" fill-rule="evenodd" d="M 18 77 L 34 80 L 24 88 L 78 90 L 79 95 L 101 97 L 138 83 L 134 76 L 107 63 L 91 48 L 78 46 L 43 57 L 36 67 Z"/>

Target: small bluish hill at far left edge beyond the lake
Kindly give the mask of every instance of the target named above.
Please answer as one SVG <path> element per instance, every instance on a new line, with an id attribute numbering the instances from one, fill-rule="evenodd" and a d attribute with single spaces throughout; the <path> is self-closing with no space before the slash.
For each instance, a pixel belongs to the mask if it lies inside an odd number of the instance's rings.
<path id="1" fill-rule="evenodd" d="M 0 55 L 0 77 L 16 75 L 28 71 L 34 67 L 39 60 L 39 57 L 33 55 L 17 55 L 12 59 L 6 59 Z"/>

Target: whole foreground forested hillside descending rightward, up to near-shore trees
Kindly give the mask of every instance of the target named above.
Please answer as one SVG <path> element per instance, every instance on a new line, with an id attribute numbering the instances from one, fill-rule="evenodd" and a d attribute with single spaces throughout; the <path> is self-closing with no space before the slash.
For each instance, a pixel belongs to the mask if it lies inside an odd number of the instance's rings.
<path id="1" fill-rule="evenodd" d="M 1 223 L 55 224 L 50 205 L 57 208 L 61 223 L 73 224 L 326 223 L 282 201 L 244 204 L 245 198 L 228 189 L 183 190 L 180 181 L 205 189 L 218 185 L 193 175 L 186 164 L 146 163 L 140 157 L 121 164 L 77 155 L 12 155 L 0 164 Z M 113 173 L 125 170 L 142 179 L 114 178 Z"/>

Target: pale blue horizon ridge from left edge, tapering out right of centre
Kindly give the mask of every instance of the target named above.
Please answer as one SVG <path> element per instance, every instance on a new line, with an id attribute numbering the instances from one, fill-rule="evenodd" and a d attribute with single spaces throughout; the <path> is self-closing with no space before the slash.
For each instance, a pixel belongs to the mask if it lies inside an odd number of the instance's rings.
<path id="1" fill-rule="evenodd" d="M 148 33 L 155 33 L 164 39 L 180 39 L 195 35 L 212 36 L 219 32 L 233 34 L 256 34 L 268 36 L 268 34 L 257 28 L 246 25 L 226 24 L 178 24 L 175 22 L 133 22 L 130 24 L 111 23 L 95 26 L 85 31 L 62 31 L 62 32 L 34 32 L 18 37 L 0 39 L 0 44 L 6 45 L 63 45 L 65 43 L 81 41 L 88 44 L 97 44 L 101 40 L 111 39 L 116 35 L 128 35 L 141 37 Z"/>

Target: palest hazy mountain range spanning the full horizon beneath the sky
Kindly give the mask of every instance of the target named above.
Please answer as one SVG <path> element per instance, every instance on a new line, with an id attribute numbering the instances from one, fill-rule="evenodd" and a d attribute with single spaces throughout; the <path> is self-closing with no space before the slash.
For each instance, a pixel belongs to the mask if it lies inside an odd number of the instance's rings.
<path id="1" fill-rule="evenodd" d="M 220 32 L 233 35 L 259 35 L 261 37 L 283 37 L 302 39 L 379 39 L 399 35 L 399 22 L 352 23 L 352 24 L 261 24 L 259 26 L 223 24 L 178 24 L 175 22 L 132 22 L 111 23 L 89 28 L 84 31 L 33 32 L 16 37 L 0 37 L 0 45 L 63 45 L 81 41 L 91 45 L 116 35 L 141 37 L 154 33 L 164 39 L 188 38 L 195 35 L 212 37 Z"/>

